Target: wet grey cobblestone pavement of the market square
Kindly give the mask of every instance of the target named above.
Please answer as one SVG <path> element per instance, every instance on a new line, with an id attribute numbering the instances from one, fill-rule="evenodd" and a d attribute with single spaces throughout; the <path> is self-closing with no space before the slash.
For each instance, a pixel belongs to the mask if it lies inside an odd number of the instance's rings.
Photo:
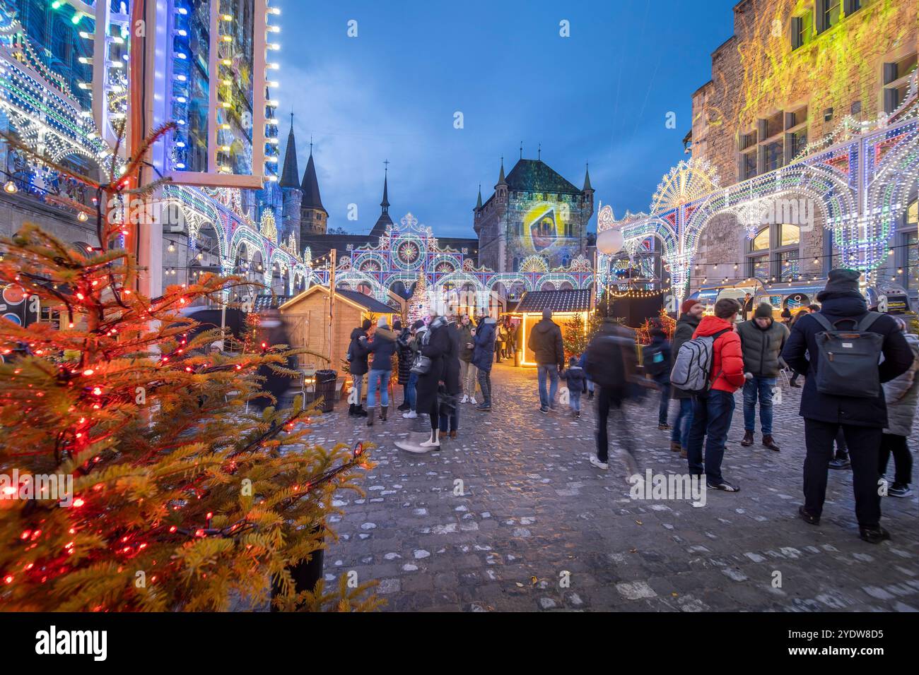
<path id="1" fill-rule="evenodd" d="M 780 453 L 760 446 L 758 432 L 753 447 L 741 446 L 736 394 L 722 466 L 741 491 L 709 490 L 693 508 L 631 500 L 621 463 L 611 458 L 608 472 L 588 463 L 593 401 L 584 399 L 580 420 L 561 407 L 544 415 L 535 370 L 499 365 L 492 379 L 493 411 L 462 406 L 458 437 L 424 456 L 393 443 L 426 420 L 391 412 L 369 429 L 343 404 L 316 418 L 317 442 L 379 444 L 366 499 L 343 492 L 336 502 L 346 515 L 335 519 L 340 541 L 325 553 L 326 579 L 350 570 L 379 579 L 384 610 L 396 611 L 919 609 L 914 495 L 883 500 L 893 538 L 880 545 L 857 536 L 849 471 L 830 472 L 819 526 L 798 518 L 800 389 L 784 388 L 777 405 Z M 641 469 L 686 473 L 669 432 L 657 429 L 656 394 L 630 412 Z"/>

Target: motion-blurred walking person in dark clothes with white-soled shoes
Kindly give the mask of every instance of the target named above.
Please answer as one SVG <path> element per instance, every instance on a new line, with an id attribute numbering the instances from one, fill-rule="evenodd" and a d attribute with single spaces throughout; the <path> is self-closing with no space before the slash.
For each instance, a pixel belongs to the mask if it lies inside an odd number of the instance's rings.
<path id="1" fill-rule="evenodd" d="M 625 459 L 630 475 L 635 473 L 636 464 L 632 450 L 632 430 L 626 419 L 623 404 L 635 395 L 635 373 L 638 358 L 634 336 L 628 329 L 610 318 L 603 320 L 600 329 L 587 347 L 584 370 L 599 388 L 596 394 L 596 456 L 590 456 L 590 463 L 606 471 L 609 468 L 609 441 L 607 422 L 612 410 L 618 418 L 619 440 L 625 446 Z"/>

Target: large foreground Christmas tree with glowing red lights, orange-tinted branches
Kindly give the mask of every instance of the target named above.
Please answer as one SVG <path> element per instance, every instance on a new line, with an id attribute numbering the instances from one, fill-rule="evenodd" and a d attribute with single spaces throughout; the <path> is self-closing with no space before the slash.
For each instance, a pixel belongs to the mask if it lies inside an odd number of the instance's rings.
<path id="1" fill-rule="evenodd" d="M 132 288 L 142 270 L 112 247 L 120 226 L 101 204 L 97 215 L 92 252 L 32 225 L 0 242 L 0 284 L 21 287 L 52 319 L 0 319 L 0 605 L 376 606 L 369 584 L 346 588 L 345 575 L 334 592 L 322 579 L 297 592 L 291 576 L 335 538 L 335 491 L 357 489 L 373 466 L 359 444 L 311 444 L 314 409 L 299 397 L 291 409 L 249 411 L 259 368 L 292 375 L 297 352 L 246 332 L 238 351 L 209 353 L 224 336 L 196 333 L 179 309 L 220 303 L 244 278 L 205 274 L 144 298 Z"/>

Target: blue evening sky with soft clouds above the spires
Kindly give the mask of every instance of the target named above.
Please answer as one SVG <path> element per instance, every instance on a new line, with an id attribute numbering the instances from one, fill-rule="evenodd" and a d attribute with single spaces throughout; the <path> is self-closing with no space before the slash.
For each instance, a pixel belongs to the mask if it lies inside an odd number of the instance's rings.
<path id="1" fill-rule="evenodd" d="M 589 162 L 596 202 L 617 216 L 647 210 L 686 157 L 690 96 L 732 35 L 735 3 L 274 0 L 282 152 L 292 107 L 301 172 L 312 135 L 329 227 L 354 233 L 380 214 L 388 159 L 393 220 L 411 211 L 437 235 L 474 236 L 478 186 L 487 199 L 520 141 L 526 158 L 541 143 L 542 160 L 578 187 Z"/>

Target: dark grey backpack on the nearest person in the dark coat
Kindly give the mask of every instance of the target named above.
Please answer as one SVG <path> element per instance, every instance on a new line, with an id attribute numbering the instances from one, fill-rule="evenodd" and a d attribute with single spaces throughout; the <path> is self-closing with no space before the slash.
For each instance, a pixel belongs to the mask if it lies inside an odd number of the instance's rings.
<path id="1" fill-rule="evenodd" d="M 823 314 L 811 316 L 825 328 L 814 335 L 817 343 L 817 391 L 833 396 L 876 399 L 880 394 L 878 364 L 884 346 L 884 336 L 868 332 L 880 314 L 869 311 L 861 321 L 838 319 L 831 322 Z M 853 323 L 851 331 L 836 328 L 838 323 Z"/>

